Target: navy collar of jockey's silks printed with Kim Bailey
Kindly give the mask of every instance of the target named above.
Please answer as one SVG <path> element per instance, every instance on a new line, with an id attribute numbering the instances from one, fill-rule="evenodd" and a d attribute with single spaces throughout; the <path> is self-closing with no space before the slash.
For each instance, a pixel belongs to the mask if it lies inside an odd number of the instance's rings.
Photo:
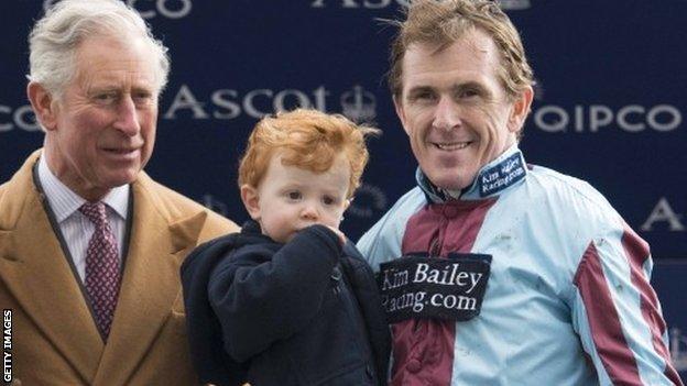
<path id="1" fill-rule="evenodd" d="M 477 200 L 498 196 L 517 185 L 526 175 L 525 158 L 517 144 L 513 144 L 499 157 L 482 166 L 472 184 L 462 189 L 459 198 L 454 198 L 448 191 L 435 186 L 419 167 L 415 173 L 415 179 L 429 201 L 440 203 L 451 199 Z"/>

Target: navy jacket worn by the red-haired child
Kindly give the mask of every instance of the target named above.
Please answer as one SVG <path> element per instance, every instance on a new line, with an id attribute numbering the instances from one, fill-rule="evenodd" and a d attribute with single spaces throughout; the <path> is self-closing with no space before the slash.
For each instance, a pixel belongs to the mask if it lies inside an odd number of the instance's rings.
<path id="1" fill-rule="evenodd" d="M 286 244 L 248 221 L 182 266 L 194 364 L 218 385 L 385 385 L 391 340 L 372 271 L 324 225 Z"/>

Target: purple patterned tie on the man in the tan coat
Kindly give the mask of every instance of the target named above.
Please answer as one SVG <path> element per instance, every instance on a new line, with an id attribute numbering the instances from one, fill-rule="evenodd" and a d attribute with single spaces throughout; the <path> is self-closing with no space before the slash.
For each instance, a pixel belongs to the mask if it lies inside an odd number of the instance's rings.
<path id="1" fill-rule="evenodd" d="M 117 240 L 107 221 L 105 203 L 86 202 L 79 211 L 96 227 L 86 250 L 86 291 L 105 339 L 110 334 L 119 294 Z"/>

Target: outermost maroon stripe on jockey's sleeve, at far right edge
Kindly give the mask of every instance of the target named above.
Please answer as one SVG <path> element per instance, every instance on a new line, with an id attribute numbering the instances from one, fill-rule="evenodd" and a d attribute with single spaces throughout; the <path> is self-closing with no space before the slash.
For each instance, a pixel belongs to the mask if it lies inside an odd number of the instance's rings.
<path id="1" fill-rule="evenodd" d="M 664 374 L 675 385 L 683 385 L 677 371 L 670 362 L 670 354 L 663 342 L 663 334 L 666 330 L 665 320 L 658 311 L 658 297 L 648 284 L 648 278 L 644 275 L 644 263 L 650 256 L 648 244 L 642 240 L 628 224 L 622 236 L 622 245 L 630 262 L 630 275 L 632 284 L 640 291 L 642 317 L 652 332 L 654 350 L 665 361 Z"/>

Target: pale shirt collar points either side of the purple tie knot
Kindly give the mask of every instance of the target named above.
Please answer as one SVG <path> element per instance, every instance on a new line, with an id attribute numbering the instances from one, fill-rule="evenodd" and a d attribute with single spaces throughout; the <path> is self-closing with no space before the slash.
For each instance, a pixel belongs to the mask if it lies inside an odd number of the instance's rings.
<path id="1" fill-rule="evenodd" d="M 86 202 L 84 198 L 75 194 L 53 174 L 43 156 L 39 159 L 39 179 L 41 180 L 47 201 L 53 212 L 55 212 L 57 222 L 66 220 Z M 129 189 L 129 184 L 118 186 L 101 199 L 101 201 L 119 214 L 122 220 L 127 220 Z"/>

